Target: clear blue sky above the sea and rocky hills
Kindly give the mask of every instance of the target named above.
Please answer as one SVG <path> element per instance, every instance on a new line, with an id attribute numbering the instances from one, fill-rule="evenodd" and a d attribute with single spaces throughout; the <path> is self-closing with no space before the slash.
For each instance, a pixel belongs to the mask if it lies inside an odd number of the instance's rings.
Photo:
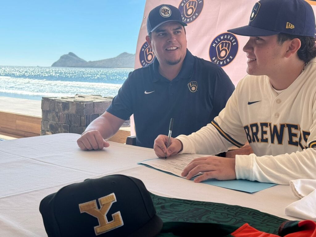
<path id="1" fill-rule="evenodd" d="M 0 4 L 0 65 L 51 66 L 135 53 L 146 0 L 11 0 Z"/>

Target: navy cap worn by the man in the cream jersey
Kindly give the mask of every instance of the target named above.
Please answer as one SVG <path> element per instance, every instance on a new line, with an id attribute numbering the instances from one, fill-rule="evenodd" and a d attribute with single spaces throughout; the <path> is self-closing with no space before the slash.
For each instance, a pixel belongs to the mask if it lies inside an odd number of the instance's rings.
<path id="1" fill-rule="evenodd" d="M 315 15 L 305 0 L 261 0 L 252 8 L 249 24 L 228 30 L 244 36 L 286 33 L 315 36 Z"/>

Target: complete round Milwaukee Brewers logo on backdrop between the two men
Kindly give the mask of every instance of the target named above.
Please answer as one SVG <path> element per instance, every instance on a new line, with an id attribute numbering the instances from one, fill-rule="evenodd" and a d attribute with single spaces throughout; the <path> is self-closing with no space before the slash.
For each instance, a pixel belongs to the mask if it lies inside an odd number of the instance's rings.
<path id="1" fill-rule="evenodd" d="M 210 60 L 221 67 L 230 64 L 238 52 L 238 40 L 232 33 L 217 35 L 210 45 Z"/>

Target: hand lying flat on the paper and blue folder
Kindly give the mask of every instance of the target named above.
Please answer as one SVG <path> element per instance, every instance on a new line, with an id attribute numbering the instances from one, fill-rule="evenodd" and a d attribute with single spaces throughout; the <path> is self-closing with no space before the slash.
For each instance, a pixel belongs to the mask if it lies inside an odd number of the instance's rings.
<path id="1" fill-rule="evenodd" d="M 194 179 L 196 183 L 206 179 L 236 179 L 235 159 L 218 156 L 199 157 L 191 161 L 187 167 L 185 167 L 181 175 L 186 176 L 186 179 L 191 179 L 200 172 L 205 173 Z"/>

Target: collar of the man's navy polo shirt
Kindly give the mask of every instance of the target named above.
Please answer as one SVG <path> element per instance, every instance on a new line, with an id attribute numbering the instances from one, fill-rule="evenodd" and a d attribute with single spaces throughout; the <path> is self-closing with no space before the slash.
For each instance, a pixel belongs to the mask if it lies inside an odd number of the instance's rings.
<path id="1" fill-rule="evenodd" d="M 194 65 L 194 56 L 191 54 L 191 52 L 188 49 L 186 49 L 186 55 L 183 60 L 182 68 L 178 76 L 176 76 L 173 80 L 178 81 L 179 79 L 190 78 L 193 71 L 193 65 Z M 153 71 L 154 71 L 153 82 L 158 82 L 160 80 L 167 80 L 164 76 L 161 76 L 161 74 L 159 73 L 159 62 L 157 58 L 155 58 L 153 62 Z"/>

